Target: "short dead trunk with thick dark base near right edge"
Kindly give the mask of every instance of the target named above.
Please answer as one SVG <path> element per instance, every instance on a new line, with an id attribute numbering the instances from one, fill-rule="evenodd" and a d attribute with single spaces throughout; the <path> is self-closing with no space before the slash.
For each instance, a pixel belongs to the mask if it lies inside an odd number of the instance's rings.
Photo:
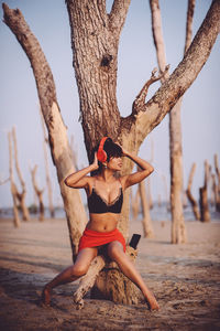
<path id="1" fill-rule="evenodd" d="M 209 164 L 205 161 L 205 179 L 204 186 L 199 189 L 199 205 L 201 222 L 210 222 L 209 202 L 208 202 L 208 181 L 209 181 Z"/>

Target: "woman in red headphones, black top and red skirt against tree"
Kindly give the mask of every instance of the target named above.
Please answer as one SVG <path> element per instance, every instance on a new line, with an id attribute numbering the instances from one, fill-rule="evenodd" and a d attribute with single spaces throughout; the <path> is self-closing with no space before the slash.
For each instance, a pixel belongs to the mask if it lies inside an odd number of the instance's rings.
<path id="1" fill-rule="evenodd" d="M 122 157 L 135 162 L 141 171 L 117 178 L 117 172 L 122 168 Z M 76 263 L 46 284 L 42 293 L 43 303 L 50 305 L 54 287 L 84 276 L 91 260 L 98 255 L 99 248 L 105 247 L 108 256 L 117 261 L 121 271 L 141 289 L 150 309 L 158 309 L 155 297 L 125 255 L 125 241 L 117 228 L 124 190 L 144 180 L 153 170 L 146 161 L 129 153 L 111 138 L 105 137 L 99 143 L 98 151 L 95 152 L 92 164 L 66 178 L 67 186 L 86 190 L 89 222 L 79 241 Z M 90 172 L 96 172 L 96 175 L 88 175 Z"/>

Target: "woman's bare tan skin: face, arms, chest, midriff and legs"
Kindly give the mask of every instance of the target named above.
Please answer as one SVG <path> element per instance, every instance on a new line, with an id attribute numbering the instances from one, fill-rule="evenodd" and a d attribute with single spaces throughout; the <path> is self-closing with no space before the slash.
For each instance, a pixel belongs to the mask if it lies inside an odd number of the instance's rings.
<path id="1" fill-rule="evenodd" d="M 143 159 L 131 154 L 130 152 L 123 151 L 123 157 L 130 158 L 135 162 L 141 171 L 134 172 L 132 174 L 123 175 L 120 178 L 120 181 L 114 177 L 117 171 L 120 171 L 122 168 L 122 158 L 111 158 L 108 161 L 103 162 L 106 168 L 102 168 L 100 174 L 96 177 L 90 177 L 88 173 L 98 169 L 98 160 L 95 154 L 94 163 L 87 168 L 84 168 L 69 177 L 66 178 L 65 183 L 69 188 L 74 189 L 85 189 L 87 195 L 91 194 L 92 186 L 96 180 L 96 191 L 97 193 L 106 200 L 108 203 L 111 203 L 119 195 L 120 185 L 122 190 L 125 191 L 129 186 L 134 185 L 143 181 L 147 175 L 150 175 L 154 169 L 153 167 L 144 161 Z M 121 184 L 120 184 L 121 182 Z M 87 228 L 98 232 L 111 232 L 117 227 L 120 214 L 105 213 L 105 214 L 92 214 L 89 215 L 89 222 Z M 121 271 L 130 278 L 142 291 L 144 298 L 151 310 L 157 310 L 158 303 L 154 295 L 144 284 L 141 275 L 136 270 L 134 264 L 123 252 L 122 244 L 118 241 L 111 242 L 108 244 L 108 256 L 118 263 Z M 78 279 L 84 276 L 91 260 L 98 255 L 98 247 L 84 248 L 79 252 L 76 258 L 76 263 L 66 268 L 59 275 L 57 275 L 52 281 L 46 284 L 42 292 L 42 301 L 45 305 L 51 302 L 51 291 L 54 287 L 57 287 L 63 284 L 67 284 Z"/>

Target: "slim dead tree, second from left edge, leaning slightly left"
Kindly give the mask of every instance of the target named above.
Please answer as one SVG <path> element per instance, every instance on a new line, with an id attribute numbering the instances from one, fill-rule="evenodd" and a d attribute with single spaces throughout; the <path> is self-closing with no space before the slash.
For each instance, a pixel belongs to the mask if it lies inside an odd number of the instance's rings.
<path id="1" fill-rule="evenodd" d="M 21 188 L 22 191 L 21 192 L 16 192 L 16 199 L 20 202 L 20 206 L 21 206 L 21 211 L 22 211 L 22 215 L 23 215 L 23 221 L 30 221 L 30 214 L 29 214 L 29 210 L 26 207 L 25 204 L 25 197 L 26 197 L 26 185 L 24 183 L 20 167 L 19 167 L 19 157 L 18 157 L 18 147 L 16 147 L 16 132 L 15 132 L 15 128 L 13 127 L 12 129 L 12 140 L 13 140 L 13 146 L 14 146 L 14 160 L 15 160 L 15 169 L 16 169 L 16 173 L 21 183 Z"/>

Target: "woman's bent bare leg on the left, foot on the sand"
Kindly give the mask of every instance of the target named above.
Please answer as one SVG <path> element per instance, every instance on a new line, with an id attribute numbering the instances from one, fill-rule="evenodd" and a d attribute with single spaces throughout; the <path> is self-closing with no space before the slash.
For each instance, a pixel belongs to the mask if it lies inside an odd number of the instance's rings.
<path id="1" fill-rule="evenodd" d="M 51 291 L 53 288 L 72 282 L 79 277 L 86 275 L 90 263 L 97 256 L 97 248 L 84 248 L 79 252 L 76 258 L 76 263 L 58 274 L 54 279 L 47 282 L 42 292 L 42 302 L 44 305 L 50 305 L 51 302 Z"/>

